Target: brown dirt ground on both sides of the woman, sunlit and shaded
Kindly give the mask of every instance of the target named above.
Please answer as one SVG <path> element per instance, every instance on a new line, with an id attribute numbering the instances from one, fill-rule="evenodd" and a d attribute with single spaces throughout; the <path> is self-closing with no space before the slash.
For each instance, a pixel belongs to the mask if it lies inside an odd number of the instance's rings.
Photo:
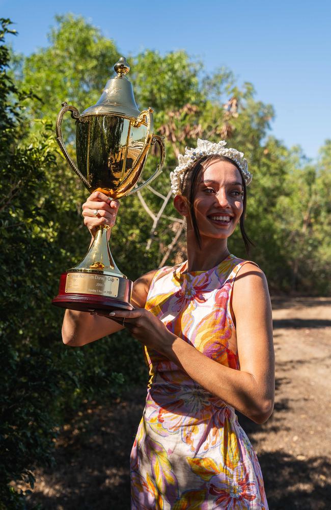
<path id="1" fill-rule="evenodd" d="M 330 508 L 331 299 L 273 299 L 277 360 L 272 417 L 239 417 L 259 456 L 270 510 Z M 128 510 L 128 460 L 145 389 L 87 406 L 61 433 L 57 466 L 30 498 L 45 510 Z"/>

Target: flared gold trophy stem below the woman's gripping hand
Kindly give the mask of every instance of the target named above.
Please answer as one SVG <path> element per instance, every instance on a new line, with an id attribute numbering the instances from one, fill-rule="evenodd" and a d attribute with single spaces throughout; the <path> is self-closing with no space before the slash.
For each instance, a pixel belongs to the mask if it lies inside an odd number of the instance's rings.
<path id="1" fill-rule="evenodd" d="M 94 241 L 84 259 L 69 271 L 95 272 L 100 271 L 103 274 L 126 276 L 119 270 L 114 262 L 109 243 L 107 240 L 108 225 L 99 226 Z"/>

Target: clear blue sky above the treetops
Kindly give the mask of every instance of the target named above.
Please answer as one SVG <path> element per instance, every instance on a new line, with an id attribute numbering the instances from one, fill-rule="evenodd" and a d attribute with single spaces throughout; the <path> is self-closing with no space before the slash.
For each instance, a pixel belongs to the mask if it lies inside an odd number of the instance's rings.
<path id="1" fill-rule="evenodd" d="M 19 33 L 7 41 L 25 55 L 46 46 L 54 16 L 68 12 L 114 39 L 124 56 L 184 49 L 208 71 L 228 67 L 274 107 L 271 134 L 308 158 L 331 138 L 329 0 L 0 0 L 0 16 Z"/>

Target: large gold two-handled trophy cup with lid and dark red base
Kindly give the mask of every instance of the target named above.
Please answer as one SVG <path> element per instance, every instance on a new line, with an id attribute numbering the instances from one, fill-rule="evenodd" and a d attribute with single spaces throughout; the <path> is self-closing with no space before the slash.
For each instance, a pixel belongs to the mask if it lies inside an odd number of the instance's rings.
<path id="1" fill-rule="evenodd" d="M 115 78 L 107 81 L 96 105 L 80 115 L 62 103 L 57 118 L 57 142 L 71 168 L 90 193 L 99 190 L 111 198 L 121 198 L 141 190 L 162 171 L 166 159 L 163 137 L 153 133 L 153 110 L 139 111 L 124 57 L 115 64 Z M 77 166 L 63 142 L 63 115 L 71 112 L 76 121 Z M 152 144 L 160 147 L 160 163 L 154 174 L 137 186 Z M 100 226 L 85 258 L 61 275 L 59 294 L 52 300 L 57 307 L 71 310 L 131 310 L 132 282 L 118 269 L 107 241 L 109 226 Z"/>

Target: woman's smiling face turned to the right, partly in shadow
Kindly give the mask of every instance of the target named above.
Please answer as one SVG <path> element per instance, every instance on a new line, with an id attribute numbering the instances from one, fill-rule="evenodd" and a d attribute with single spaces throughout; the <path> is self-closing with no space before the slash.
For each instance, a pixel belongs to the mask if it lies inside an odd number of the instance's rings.
<path id="1" fill-rule="evenodd" d="M 201 237 L 231 236 L 243 210 L 242 177 L 229 161 L 214 161 L 198 177 L 194 209 Z"/>

